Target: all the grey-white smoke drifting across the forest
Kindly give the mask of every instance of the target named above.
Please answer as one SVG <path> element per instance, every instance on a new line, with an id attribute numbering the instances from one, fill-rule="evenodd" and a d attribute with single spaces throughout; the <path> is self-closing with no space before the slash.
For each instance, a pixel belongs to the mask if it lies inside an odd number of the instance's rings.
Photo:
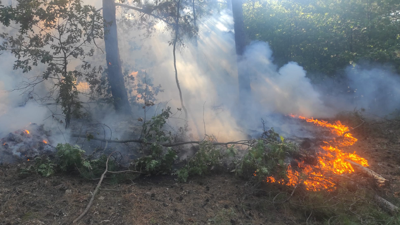
<path id="1" fill-rule="evenodd" d="M 375 108 L 387 114 L 398 107 L 400 79 L 396 74 L 380 68 L 353 67 L 348 69 L 345 84 L 337 86 L 327 82 L 325 88 L 317 89 L 296 62 L 278 68 L 273 63 L 274 53 L 265 42 L 252 42 L 246 47 L 243 60 L 237 63 L 230 12 L 202 17 L 198 24 L 198 46 L 193 44 L 194 40 L 185 40 L 186 48 L 177 51 L 178 78 L 184 105 L 189 112 L 191 131 L 188 136 L 192 139 L 202 140 L 204 133 L 213 134 L 220 141 L 248 138 L 248 135 L 254 137 L 262 129 L 261 119 L 266 121 L 267 127 L 274 127 L 284 135 L 306 137 L 308 134 L 300 131 L 301 128 L 292 124 L 295 122 L 286 119 L 285 115 L 330 117 L 340 110 L 354 107 Z M 155 26 L 156 30 L 163 28 L 161 23 Z M 146 71 L 148 81 L 154 85 L 161 84 L 164 92 L 156 96 L 156 103 L 161 103 L 159 108 L 165 108 L 167 102 L 172 111 L 181 108 L 172 46 L 168 45 L 170 33 L 160 32 L 144 38 L 143 31 L 130 30 L 119 32 L 123 69 L 128 73 Z M 104 43 L 98 42 L 98 46 L 104 49 Z M 93 66 L 101 64 L 105 67 L 105 56 L 97 48 L 95 55 Z M 23 76 L 12 70 L 14 60 L 10 55 L 0 57 L 3 68 L 0 77 L 0 90 L 3 91 L 0 93 L 0 135 L 21 129 L 28 123 L 44 123 L 43 119 L 50 115 L 46 108 L 34 103 L 18 107 L 26 96 L 20 92 L 4 92 L 17 86 Z M 239 102 L 238 98 L 238 66 L 246 68 L 252 81 L 252 94 L 246 102 Z M 36 70 L 39 72 L 40 68 Z M 326 93 L 326 90 L 346 89 L 347 86 L 353 88 L 352 93 Z M 114 113 L 92 112 L 100 122 L 120 126 L 116 121 L 121 118 Z M 134 109 L 133 117 L 143 117 L 142 114 L 142 110 Z M 178 111 L 174 118 L 169 121 L 171 127 L 184 125 L 181 112 Z M 113 138 L 123 137 L 118 134 L 118 126 L 112 130 Z"/>

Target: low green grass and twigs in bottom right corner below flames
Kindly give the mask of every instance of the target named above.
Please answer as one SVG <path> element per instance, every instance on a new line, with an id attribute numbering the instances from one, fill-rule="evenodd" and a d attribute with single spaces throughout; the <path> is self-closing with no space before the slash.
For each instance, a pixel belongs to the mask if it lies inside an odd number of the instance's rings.
<path id="1" fill-rule="evenodd" d="M 350 187 L 354 183 L 349 184 Z M 344 185 L 346 186 L 346 185 Z M 350 191 L 346 187 L 338 187 L 334 192 L 318 191 L 307 192 L 304 195 L 295 196 L 288 202 L 297 205 L 295 208 L 301 211 L 312 212 L 318 221 L 324 221 L 331 225 L 356 225 L 365 224 L 400 224 L 398 215 L 391 216 L 378 207 L 373 196 L 374 190 L 359 188 Z"/>

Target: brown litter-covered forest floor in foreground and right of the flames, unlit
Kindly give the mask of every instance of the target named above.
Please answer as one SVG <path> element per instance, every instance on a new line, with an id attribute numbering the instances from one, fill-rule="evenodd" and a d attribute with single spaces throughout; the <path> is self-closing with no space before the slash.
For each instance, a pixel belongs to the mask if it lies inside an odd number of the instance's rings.
<path id="1" fill-rule="evenodd" d="M 342 121 L 355 127 L 359 121 Z M 382 195 L 400 192 L 400 122 L 366 123 L 352 132 L 347 151 L 368 159 L 370 169 L 391 181 Z M 85 209 L 97 181 L 73 175 L 22 177 L 29 162 L 0 166 L 0 224 L 71 224 Z M 172 176 L 143 177 L 123 184 L 105 179 L 88 214 L 78 224 L 323 224 L 304 211 L 266 204 L 270 184 L 254 186 L 233 175 L 197 177 L 176 183 Z"/>

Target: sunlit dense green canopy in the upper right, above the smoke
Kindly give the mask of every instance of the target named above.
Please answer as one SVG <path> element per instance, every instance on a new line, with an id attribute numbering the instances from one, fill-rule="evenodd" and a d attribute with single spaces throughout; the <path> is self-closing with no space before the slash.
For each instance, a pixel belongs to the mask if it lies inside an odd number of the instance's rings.
<path id="1" fill-rule="evenodd" d="M 398 0 L 253 0 L 244 17 L 250 38 L 269 42 L 278 65 L 334 76 L 371 61 L 400 71 Z"/>

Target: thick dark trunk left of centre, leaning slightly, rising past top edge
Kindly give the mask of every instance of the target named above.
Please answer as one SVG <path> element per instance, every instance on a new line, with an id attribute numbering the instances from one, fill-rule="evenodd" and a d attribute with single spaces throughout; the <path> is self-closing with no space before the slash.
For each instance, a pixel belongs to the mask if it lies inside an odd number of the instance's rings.
<path id="1" fill-rule="evenodd" d="M 120 50 L 118 49 L 114 0 L 103 0 L 103 19 L 108 82 L 111 86 L 114 107 L 117 112 L 130 113 L 131 108 L 129 105 L 128 93 L 125 89 L 124 75 L 122 74 L 121 68 Z"/>

